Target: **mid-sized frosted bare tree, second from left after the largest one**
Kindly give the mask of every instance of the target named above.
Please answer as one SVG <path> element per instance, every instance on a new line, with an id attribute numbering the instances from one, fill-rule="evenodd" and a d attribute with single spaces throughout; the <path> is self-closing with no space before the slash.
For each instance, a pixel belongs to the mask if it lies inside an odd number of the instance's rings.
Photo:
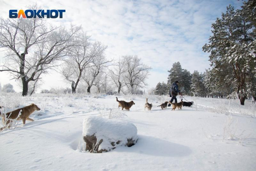
<path id="1" fill-rule="evenodd" d="M 91 43 L 89 36 L 83 31 L 74 40 L 76 45 L 70 48 L 68 58 L 65 60 L 62 74 L 65 79 L 71 82 L 72 93 L 76 93 L 76 87 L 82 79 L 82 74 L 86 67 L 90 67 L 93 61 L 101 55 L 107 46 L 99 42 Z"/>

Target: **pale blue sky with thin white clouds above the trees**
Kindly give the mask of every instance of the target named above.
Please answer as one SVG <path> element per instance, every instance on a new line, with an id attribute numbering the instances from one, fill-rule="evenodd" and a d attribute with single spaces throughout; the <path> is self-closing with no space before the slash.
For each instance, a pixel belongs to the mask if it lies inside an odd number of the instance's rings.
<path id="1" fill-rule="evenodd" d="M 0 16 L 8 18 L 10 9 L 26 10 L 34 0 L 0 0 Z M 151 66 L 148 88 L 167 81 L 167 70 L 179 61 L 183 69 L 203 72 L 209 68 L 208 54 L 202 46 L 211 35 L 211 23 L 226 6 L 240 8 L 238 0 L 44 0 L 37 2 L 42 9 L 65 9 L 62 19 L 48 19 L 55 25 L 82 25 L 92 39 L 108 45 L 106 55 L 117 59 L 136 54 Z M 0 49 L 3 50 L 3 49 Z M 5 54 L 0 52 L 0 62 Z M 42 89 L 67 87 L 58 73 L 45 76 Z M 0 72 L 0 83 L 14 85 L 10 75 Z"/>

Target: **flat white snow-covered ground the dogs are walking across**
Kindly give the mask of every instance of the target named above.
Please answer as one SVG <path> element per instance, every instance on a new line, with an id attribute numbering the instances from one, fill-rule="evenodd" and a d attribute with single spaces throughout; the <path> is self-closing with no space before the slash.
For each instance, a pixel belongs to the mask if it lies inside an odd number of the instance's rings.
<path id="1" fill-rule="evenodd" d="M 171 111 L 156 107 L 170 98 L 148 96 L 153 107 L 147 111 L 145 96 L 118 96 L 135 102 L 122 111 L 111 95 L 1 94 L 0 105 L 8 110 L 30 103 L 41 110 L 31 115 L 34 122 L 0 132 L 0 170 L 255 170 L 255 105 L 185 98 L 196 105 Z M 84 151 L 88 116 L 133 123 L 136 145 L 102 154 Z"/>

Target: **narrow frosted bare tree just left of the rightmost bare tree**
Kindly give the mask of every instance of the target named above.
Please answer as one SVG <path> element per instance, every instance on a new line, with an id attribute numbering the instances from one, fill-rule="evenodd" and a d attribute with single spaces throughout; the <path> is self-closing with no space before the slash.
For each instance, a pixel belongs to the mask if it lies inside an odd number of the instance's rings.
<path id="1" fill-rule="evenodd" d="M 125 85 L 124 73 L 126 72 L 125 60 L 119 58 L 118 61 L 113 65 L 113 69 L 110 70 L 110 77 L 118 88 L 120 93 L 121 88 Z"/>

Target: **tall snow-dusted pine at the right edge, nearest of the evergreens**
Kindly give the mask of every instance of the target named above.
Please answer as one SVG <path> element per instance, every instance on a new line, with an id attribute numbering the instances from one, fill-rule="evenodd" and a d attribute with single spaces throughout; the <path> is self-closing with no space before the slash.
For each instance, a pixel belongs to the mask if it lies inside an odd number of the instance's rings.
<path id="1" fill-rule="evenodd" d="M 210 36 L 209 44 L 203 46 L 204 52 L 211 53 L 213 70 L 232 68 L 232 72 L 225 73 L 229 75 L 226 79 L 235 78 L 233 81 L 242 105 L 248 94 L 248 72 L 256 73 L 256 68 L 252 67 L 256 60 L 255 16 L 252 14 L 255 14 L 255 0 L 244 2 L 242 9 L 236 11 L 229 5 L 226 13 L 212 24 L 213 36 Z M 223 82 L 226 79 L 223 78 Z"/>

